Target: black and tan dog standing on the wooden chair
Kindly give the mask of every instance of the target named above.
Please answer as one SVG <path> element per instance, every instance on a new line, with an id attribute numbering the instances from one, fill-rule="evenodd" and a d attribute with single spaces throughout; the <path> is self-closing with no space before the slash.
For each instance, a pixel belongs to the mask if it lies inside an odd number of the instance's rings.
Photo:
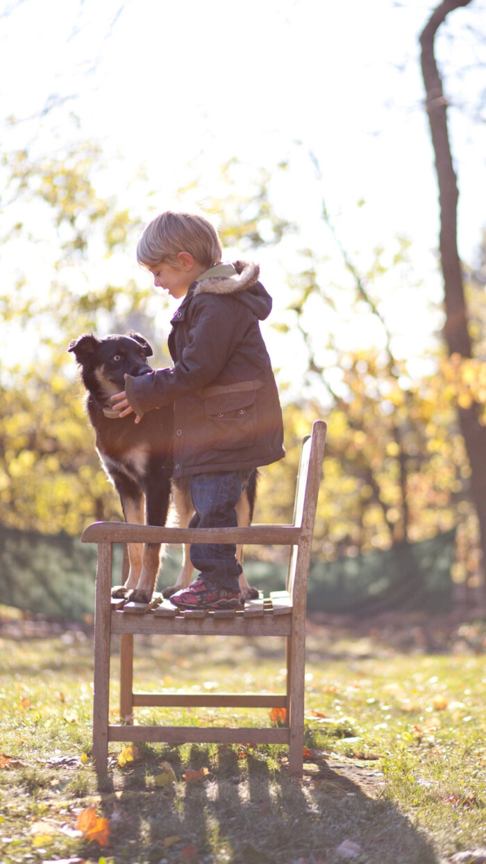
<path id="1" fill-rule="evenodd" d="M 186 528 L 193 515 L 188 478 L 171 482 L 173 405 L 148 411 L 140 423 L 134 416 L 120 417 L 111 407 L 110 397 L 124 389 L 124 375 L 145 375 L 151 372 L 147 358 L 153 353 L 140 334 L 114 334 L 98 340 L 84 334 L 73 340 L 69 349 L 77 359 L 87 393 L 86 409 L 96 433 L 96 448 L 104 470 L 120 496 L 125 522 L 132 524 L 165 525 L 172 502 L 175 521 Z M 256 470 L 246 484 L 237 504 L 238 525 L 249 525 L 256 498 Z M 129 576 L 123 586 L 113 588 L 115 596 L 147 603 L 157 580 L 161 546 L 157 543 L 129 543 Z M 243 549 L 237 546 L 237 559 L 243 560 Z M 193 566 L 184 547 L 180 575 L 175 585 L 165 588 L 170 597 L 180 588 L 187 588 Z M 256 597 L 245 576 L 240 576 L 242 601 Z"/>

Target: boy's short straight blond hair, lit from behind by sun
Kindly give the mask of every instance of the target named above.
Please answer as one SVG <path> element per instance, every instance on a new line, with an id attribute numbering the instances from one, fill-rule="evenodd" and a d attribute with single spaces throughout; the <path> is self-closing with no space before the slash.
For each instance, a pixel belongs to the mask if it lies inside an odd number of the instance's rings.
<path id="1" fill-rule="evenodd" d="M 167 210 L 148 224 L 136 246 L 136 257 L 145 267 L 162 261 L 177 264 L 179 252 L 190 252 L 208 269 L 219 264 L 223 248 L 218 232 L 204 216 Z"/>

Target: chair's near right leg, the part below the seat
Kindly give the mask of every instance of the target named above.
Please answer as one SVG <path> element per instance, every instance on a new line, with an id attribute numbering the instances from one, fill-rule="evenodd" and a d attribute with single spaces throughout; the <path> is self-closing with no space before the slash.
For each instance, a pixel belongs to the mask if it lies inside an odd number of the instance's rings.
<path id="1" fill-rule="evenodd" d="M 302 777 L 304 769 L 304 698 L 306 673 L 306 632 L 300 626 L 290 641 L 290 747 L 288 764 L 293 777 Z"/>

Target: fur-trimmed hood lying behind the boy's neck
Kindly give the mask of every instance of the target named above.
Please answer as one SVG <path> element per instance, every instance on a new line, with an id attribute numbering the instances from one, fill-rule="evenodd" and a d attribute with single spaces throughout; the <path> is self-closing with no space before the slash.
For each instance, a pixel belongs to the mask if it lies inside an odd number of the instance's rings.
<path id="1" fill-rule="evenodd" d="M 194 283 L 193 297 L 201 294 L 237 295 L 240 302 L 248 306 L 260 321 L 264 321 L 272 310 L 272 298 L 262 283 L 258 282 L 258 276 L 260 266 L 253 261 L 216 264 Z"/>

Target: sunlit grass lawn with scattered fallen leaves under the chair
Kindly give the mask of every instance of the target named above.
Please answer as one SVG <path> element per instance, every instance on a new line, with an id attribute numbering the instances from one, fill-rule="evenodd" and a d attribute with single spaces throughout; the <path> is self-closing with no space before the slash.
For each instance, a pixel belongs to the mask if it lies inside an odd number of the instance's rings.
<path id="1" fill-rule="evenodd" d="M 92 636 L 48 629 L 15 619 L 0 627 L 2 864 L 428 864 L 486 847 L 478 627 L 464 626 L 451 651 L 434 654 L 413 622 L 371 632 L 310 624 L 302 781 L 288 776 L 285 747 L 242 740 L 138 753 L 111 745 L 103 788 L 90 764 Z M 137 689 L 284 687 L 279 639 L 137 645 Z M 117 717 L 116 686 L 110 707 Z M 136 709 L 140 723 L 162 716 L 167 724 L 268 724 L 265 710 Z"/>

